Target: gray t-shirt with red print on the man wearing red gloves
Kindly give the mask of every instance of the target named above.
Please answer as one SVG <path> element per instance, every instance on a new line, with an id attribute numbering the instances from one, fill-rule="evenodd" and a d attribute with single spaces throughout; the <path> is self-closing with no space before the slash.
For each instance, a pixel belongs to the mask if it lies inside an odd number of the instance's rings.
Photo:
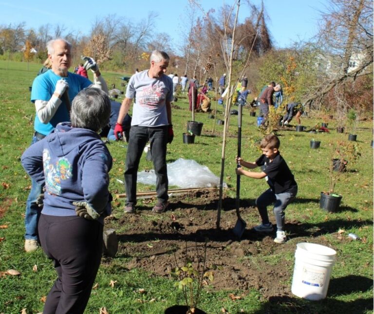
<path id="1" fill-rule="evenodd" d="M 166 101 L 173 100 L 173 82 L 167 75 L 150 78 L 148 70 L 134 74 L 127 85 L 127 98 L 135 98 L 131 125 L 168 125 Z"/>

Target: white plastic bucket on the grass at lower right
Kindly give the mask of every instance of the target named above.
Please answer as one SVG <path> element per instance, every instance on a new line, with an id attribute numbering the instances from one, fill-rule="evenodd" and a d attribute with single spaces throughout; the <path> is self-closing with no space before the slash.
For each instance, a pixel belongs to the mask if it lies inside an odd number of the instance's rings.
<path id="1" fill-rule="evenodd" d="M 337 252 L 315 243 L 298 243 L 291 291 L 308 299 L 324 299 Z"/>

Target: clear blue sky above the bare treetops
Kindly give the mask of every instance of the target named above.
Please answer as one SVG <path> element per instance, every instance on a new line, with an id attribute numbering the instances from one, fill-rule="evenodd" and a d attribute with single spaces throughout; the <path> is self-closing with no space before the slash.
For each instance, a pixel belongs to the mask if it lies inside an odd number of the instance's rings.
<path id="1" fill-rule="evenodd" d="M 294 41 L 312 38 L 318 31 L 318 10 L 324 10 L 328 0 L 264 0 L 265 10 L 269 16 L 268 26 L 275 46 L 284 48 Z M 261 0 L 252 0 L 259 5 Z M 161 5 L 161 3 L 163 5 Z M 200 0 L 205 11 L 218 9 L 224 3 L 233 1 Z M 241 1 L 239 21 L 243 22 L 250 11 Z M 156 31 L 170 35 L 173 43 L 180 43 L 180 34 L 187 30 L 187 0 L 110 0 L 110 1 L 47 1 L 47 0 L 0 0 L 0 24 L 13 25 L 26 22 L 26 27 L 37 29 L 43 24 L 64 25 L 69 31 L 78 31 L 88 35 L 95 18 L 110 14 L 125 17 L 134 24 L 145 19 L 150 11 L 158 13 Z"/>

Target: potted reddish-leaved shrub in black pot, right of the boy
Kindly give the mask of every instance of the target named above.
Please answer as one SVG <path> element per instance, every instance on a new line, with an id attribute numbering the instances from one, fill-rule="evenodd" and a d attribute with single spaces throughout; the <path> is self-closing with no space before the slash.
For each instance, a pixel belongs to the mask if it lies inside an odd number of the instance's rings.
<path id="1" fill-rule="evenodd" d="M 343 196 L 335 193 L 335 186 L 345 170 L 347 159 L 351 160 L 353 163 L 361 154 L 358 147 L 350 142 L 338 141 L 335 144 L 331 144 L 331 146 L 333 150 L 329 168 L 329 190 L 327 192 L 321 192 L 319 208 L 328 212 L 336 212 Z"/>

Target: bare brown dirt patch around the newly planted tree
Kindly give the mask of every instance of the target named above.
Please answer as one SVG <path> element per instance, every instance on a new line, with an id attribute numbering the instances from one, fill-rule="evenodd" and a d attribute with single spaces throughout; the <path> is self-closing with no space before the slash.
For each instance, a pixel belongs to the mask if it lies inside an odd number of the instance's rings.
<path id="1" fill-rule="evenodd" d="M 247 226 L 241 240 L 237 240 L 232 233 L 237 220 L 235 199 L 230 197 L 223 198 L 221 230 L 217 230 L 217 202 L 216 192 L 174 196 L 170 198 L 168 211 L 161 215 L 151 213 L 151 205 L 138 207 L 134 215 L 124 215 L 118 221 L 107 219 L 106 227 L 119 224 L 127 228 L 118 235 L 117 256 L 131 258 L 126 265 L 128 269 L 142 268 L 154 275 L 169 276 L 174 267 L 184 266 L 186 246 L 187 252 L 193 254 L 194 247 L 197 245 L 201 249 L 207 238 L 206 265 L 210 269 L 221 268 L 215 271 L 213 289 L 244 292 L 256 289 L 264 298 L 291 295 L 289 280 L 293 259 L 277 264 L 269 260 L 269 255 L 294 252 L 295 242 L 276 244 L 275 235 L 257 234 L 251 225 Z M 257 215 L 255 208 L 249 208 L 248 201 L 242 200 L 241 206 L 241 211 Z M 293 221 L 287 228 L 291 228 L 292 234 L 299 225 L 298 221 Z"/>

